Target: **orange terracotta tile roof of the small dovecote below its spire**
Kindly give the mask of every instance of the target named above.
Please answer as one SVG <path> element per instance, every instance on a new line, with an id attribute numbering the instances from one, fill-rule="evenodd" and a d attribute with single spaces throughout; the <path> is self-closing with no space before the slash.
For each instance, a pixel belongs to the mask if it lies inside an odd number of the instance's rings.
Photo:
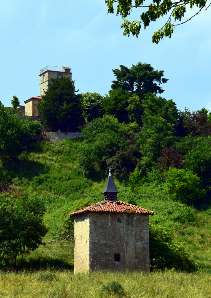
<path id="1" fill-rule="evenodd" d="M 91 205 L 89 207 L 86 207 L 84 209 L 78 210 L 76 212 L 70 213 L 70 216 L 79 215 L 82 213 L 87 212 L 130 212 L 130 210 L 133 209 L 135 213 L 143 214 L 143 215 L 153 215 L 154 211 L 149 211 L 147 209 L 143 209 L 141 207 L 124 203 L 121 201 L 102 201 L 97 204 Z M 133 211 L 131 212 L 133 213 Z"/>

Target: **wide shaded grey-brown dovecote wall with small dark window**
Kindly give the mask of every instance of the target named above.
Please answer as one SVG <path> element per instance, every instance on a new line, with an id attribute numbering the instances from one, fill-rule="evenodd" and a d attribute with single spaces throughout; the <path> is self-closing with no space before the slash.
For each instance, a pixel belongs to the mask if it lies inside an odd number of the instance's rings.
<path id="1" fill-rule="evenodd" d="M 90 214 L 90 270 L 150 270 L 149 215 Z"/>

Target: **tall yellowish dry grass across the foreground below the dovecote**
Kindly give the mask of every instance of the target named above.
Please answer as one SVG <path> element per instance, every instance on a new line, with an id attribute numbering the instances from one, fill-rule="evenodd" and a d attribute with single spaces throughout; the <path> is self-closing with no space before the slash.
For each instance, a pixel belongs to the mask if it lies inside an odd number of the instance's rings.
<path id="1" fill-rule="evenodd" d="M 211 295 L 211 275 L 206 272 L 142 274 L 98 271 L 74 275 L 72 271 L 40 270 L 1 272 L 0 297 L 96 298 L 100 297 L 102 286 L 112 281 L 121 283 L 123 297 L 208 298 Z M 103 297 L 111 296 L 105 293 Z"/>

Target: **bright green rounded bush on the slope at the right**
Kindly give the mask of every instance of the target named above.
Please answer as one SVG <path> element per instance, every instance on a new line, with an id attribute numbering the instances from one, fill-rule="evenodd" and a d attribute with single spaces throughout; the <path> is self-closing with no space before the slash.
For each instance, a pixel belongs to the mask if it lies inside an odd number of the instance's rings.
<path id="1" fill-rule="evenodd" d="M 200 178 L 190 170 L 170 168 L 166 174 L 165 188 L 170 197 L 182 203 L 196 202 L 206 196 Z"/>

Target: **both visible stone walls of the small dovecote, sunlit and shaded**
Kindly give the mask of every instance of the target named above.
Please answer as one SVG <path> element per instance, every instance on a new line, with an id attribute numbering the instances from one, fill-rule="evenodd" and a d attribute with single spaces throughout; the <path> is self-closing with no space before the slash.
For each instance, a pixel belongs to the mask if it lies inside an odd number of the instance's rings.
<path id="1" fill-rule="evenodd" d="M 83 223 L 85 216 L 86 225 Z M 81 244 L 85 241 L 89 242 L 89 246 Z M 120 255 L 120 261 L 114 260 L 115 254 Z M 75 272 L 92 270 L 148 272 L 150 270 L 149 215 L 108 212 L 77 215 Z"/>

